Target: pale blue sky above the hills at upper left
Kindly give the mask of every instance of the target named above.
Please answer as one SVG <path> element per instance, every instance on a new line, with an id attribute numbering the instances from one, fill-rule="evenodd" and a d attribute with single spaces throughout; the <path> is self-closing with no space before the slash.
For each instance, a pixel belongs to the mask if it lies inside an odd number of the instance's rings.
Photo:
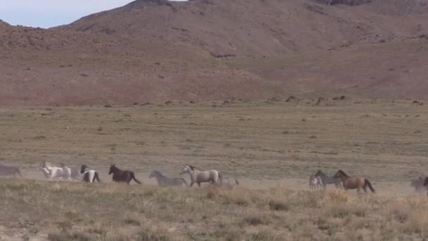
<path id="1" fill-rule="evenodd" d="M 54 27 L 133 0 L 0 0 L 0 19 L 11 25 Z M 183 0 L 175 0 L 183 1 Z"/>

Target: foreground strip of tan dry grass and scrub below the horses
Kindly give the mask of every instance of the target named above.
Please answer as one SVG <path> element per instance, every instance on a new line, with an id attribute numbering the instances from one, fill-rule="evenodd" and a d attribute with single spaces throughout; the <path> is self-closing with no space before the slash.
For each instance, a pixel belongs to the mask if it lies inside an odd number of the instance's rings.
<path id="1" fill-rule="evenodd" d="M 428 238 L 424 196 L 29 180 L 1 180 L 0 185 L 0 214 L 8 217 L 8 228 L 48 240 Z M 231 202 L 237 196 L 241 201 Z"/>

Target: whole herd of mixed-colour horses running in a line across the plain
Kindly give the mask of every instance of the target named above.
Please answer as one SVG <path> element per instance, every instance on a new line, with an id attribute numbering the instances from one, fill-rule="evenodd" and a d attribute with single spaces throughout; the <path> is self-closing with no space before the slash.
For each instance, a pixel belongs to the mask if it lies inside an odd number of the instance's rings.
<path id="1" fill-rule="evenodd" d="M 39 165 L 39 170 L 42 171 L 46 179 L 48 180 L 75 180 L 83 181 L 86 183 L 101 182 L 99 179 L 99 173 L 87 165 L 82 165 L 80 168 L 69 168 L 61 163 L 59 166 L 51 166 L 50 163 L 44 161 Z M 149 178 L 156 178 L 156 181 L 160 187 L 168 186 L 186 186 L 191 187 L 195 183 L 201 187 L 201 183 L 210 183 L 213 185 L 220 185 L 223 187 L 235 187 L 239 185 L 239 181 L 235 178 L 223 178 L 222 174 L 214 169 L 201 170 L 191 165 L 182 166 L 180 175 L 189 174 L 190 183 L 184 178 L 178 177 L 167 177 L 160 173 L 160 171 L 152 171 Z M 0 164 L 0 176 L 22 176 L 20 168 L 16 166 L 6 166 Z M 120 168 L 112 164 L 108 171 L 108 175 L 112 175 L 112 180 L 119 183 L 130 184 L 132 180 L 135 183 L 141 184 L 141 182 L 135 178 L 135 174 L 132 171 L 122 171 Z M 310 190 L 317 189 L 318 187 L 327 187 L 327 185 L 334 185 L 336 188 L 344 188 L 344 190 L 363 190 L 367 192 L 367 188 L 371 192 L 375 192 L 372 183 L 367 178 L 360 176 L 350 176 L 344 171 L 339 170 L 334 175 L 329 176 L 322 171 L 318 170 L 315 174 L 309 177 L 309 188 Z M 428 194 L 428 177 L 417 178 L 412 180 L 410 185 L 415 188 L 417 192 L 427 190 Z"/>

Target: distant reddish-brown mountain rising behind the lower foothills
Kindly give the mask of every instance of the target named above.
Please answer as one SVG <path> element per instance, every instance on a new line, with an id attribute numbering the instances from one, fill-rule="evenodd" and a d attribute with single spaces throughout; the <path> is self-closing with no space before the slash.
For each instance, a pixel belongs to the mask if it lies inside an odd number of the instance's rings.
<path id="1" fill-rule="evenodd" d="M 139 0 L 60 28 L 196 45 L 215 56 L 281 56 L 413 37 L 427 24 L 427 0 L 375 0 L 360 6 L 301 0 Z"/>

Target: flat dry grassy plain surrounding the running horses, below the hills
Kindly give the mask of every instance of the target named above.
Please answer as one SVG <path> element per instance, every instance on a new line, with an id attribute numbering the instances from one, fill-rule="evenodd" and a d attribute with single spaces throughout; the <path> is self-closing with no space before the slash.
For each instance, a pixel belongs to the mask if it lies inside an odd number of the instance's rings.
<path id="1" fill-rule="evenodd" d="M 428 109 L 412 101 L 216 101 L 0 109 L 5 240 L 422 240 Z M 88 164 L 103 183 L 46 182 L 42 161 Z M 425 161 L 425 162 L 424 162 Z M 144 186 L 111 183 L 109 163 Z M 189 163 L 240 180 L 237 190 L 160 189 L 158 169 Z M 376 195 L 310 192 L 317 169 L 363 175 Z M 188 178 L 185 176 L 185 178 Z"/>

